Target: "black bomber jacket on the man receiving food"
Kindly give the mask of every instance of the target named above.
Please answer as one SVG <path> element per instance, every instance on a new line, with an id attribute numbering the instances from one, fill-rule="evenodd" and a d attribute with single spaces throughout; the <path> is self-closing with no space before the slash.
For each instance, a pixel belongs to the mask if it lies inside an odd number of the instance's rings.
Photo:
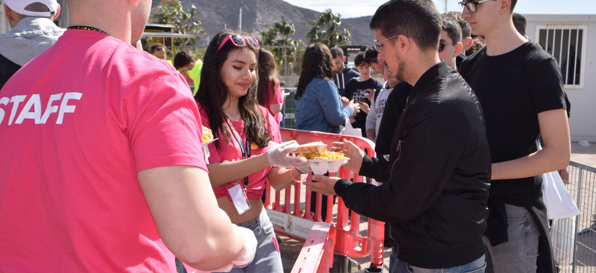
<path id="1" fill-rule="evenodd" d="M 375 187 L 341 179 L 338 196 L 355 212 L 388 222 L 398 258 L 449 268 L 486 250 L 491 157 L 480 104 L 462 77 L 441 62 L 409 94 L 389 161 L 368 158 L 360 175 Z"/>

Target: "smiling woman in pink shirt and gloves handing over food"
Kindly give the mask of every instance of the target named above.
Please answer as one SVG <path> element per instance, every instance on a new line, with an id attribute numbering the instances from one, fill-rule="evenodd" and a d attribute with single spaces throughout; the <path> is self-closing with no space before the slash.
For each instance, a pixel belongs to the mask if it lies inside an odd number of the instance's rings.
<path id="1" fill-rule="evenodd" d="M 219 207 L 232 223 L 251 229 L 258 242 L 253 262 L 232 272 L 283 272 L 261 196 L 265 179 L 275 190 L 282 190 L 302 173 L 281 166 L 306 164 L 305 159 L 288 157 L 296 141 L 281 143 L 277 121 L 257 105 L 258 48 L 252 37 L 226 31 L 215 35 L 207 47 L 201 70 L 204 80 L 195 95 L 203 126 L 219 138 L 208 144 L 207 166 Z"/>

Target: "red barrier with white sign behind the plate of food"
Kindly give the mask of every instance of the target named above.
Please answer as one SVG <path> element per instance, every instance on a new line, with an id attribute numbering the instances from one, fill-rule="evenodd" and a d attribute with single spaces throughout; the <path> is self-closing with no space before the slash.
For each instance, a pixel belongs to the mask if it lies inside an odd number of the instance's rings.
<path id="1" fill-rule="evenodd" d="M 301 144 L 322 141 L 328 147 L 331 147 L 332 142 L 342 141 L 345 138 L 358 145 L 358 147 L 367 153 L 367 156 L 374 156 L 374 144 L 369 139 L 285 128 L 280 129 L 280 131 L 283 141 L 296 140 Z M 352 178 L 354 182 L 363 182 L 362 176 L 352 173 L 345 167 L 342 167 L 339 172 L 330 173 L 329 175 L 347 179 Z M 311 175 L 308 175 L 306 179 L 311 181 Z M 276 233 L 305 241 L 309 233 L 313 230 L 315 223 L 323 222 L 324 220 L 328 224 L 333 224 L 333 229 L 335 230 L 335 240 L 333 240 L 334 253 L 351 258 L 361 258 L 372 254 L 371 263 L 373 265 L 380 266 L 383 263 L 383 222 L 368 219 L 367 237 L 362 237 L 359 234 L 360 215 L 352 212 L 350 215 L 351 221 L 349 221 L 349 210 L 344 205 L 342 198 L 338 198 L 337 201 L 337 223 L 333 223 L 333 197 L 331 196 L 327 197 L 327 207 L 324 208 L 327 210 L 327 219 L 321 219 L 321 211 L 323 209 L 321 207 L 323 198 L 321 194 L 316 194 L 316 212 L 312 213 L 310 212 L 311 191 L 306 190 L 305 210 L 300 210 L 301 187 L 302 184 L 293 183 L 290 187 L 285 188 L 283 206 L 280 204 L 281 192 L 276 191 L 275 200 L 271 201 L 269 194 L 271 187 L 267 187 L 265 207 Z M 294 191 L 293 194 L 291 193 L 292 190 Z M 293 207 L 291 207 L 291 201 L 293 201 Z"/>

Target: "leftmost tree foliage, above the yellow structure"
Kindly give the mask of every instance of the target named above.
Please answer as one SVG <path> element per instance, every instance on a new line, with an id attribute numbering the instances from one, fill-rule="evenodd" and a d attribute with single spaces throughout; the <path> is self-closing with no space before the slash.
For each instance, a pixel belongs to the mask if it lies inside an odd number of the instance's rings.
<path id="1" fill-rule="evenodd" d="M 160 5 L 151 18 L 153 23 L 171 24 L 174 32 L 188 35 L 204 35 L 207 32 L 201 27 L 201 21 L 193 20 L 197 8 L 192 5 L 190 10 L 185 11 L 180 0 L 174 0 L 166 5 Z M 175 38 L 172 41 L 175 46 L 195 45 L 194 38 Z"/>

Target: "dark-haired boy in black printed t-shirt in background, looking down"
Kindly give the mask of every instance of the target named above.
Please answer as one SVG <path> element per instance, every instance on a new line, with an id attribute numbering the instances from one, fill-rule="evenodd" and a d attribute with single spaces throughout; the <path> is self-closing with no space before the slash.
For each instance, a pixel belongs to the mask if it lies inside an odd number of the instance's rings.
<path id="1" fill-rule="evenodd" d="M 367 115 L 368 110 L 370 110 L 371 101 L 365 95 L 372 94 L 375 90 L 383 88 L 383 83 L 371 77 L 371 64 L 365 60 L 363 52 L 356 55 L 354 64 L 358 72 L 360 72 L 360 76 L 352 78 L 347 82 L 344 96 L 347 98 L 347 101 L 358 101 L 361 111 L 356 116 L 350 117 L 350 122 L 352 122 L 353 128 L 361 128 L 362 137 L 366 138 Z"/>

